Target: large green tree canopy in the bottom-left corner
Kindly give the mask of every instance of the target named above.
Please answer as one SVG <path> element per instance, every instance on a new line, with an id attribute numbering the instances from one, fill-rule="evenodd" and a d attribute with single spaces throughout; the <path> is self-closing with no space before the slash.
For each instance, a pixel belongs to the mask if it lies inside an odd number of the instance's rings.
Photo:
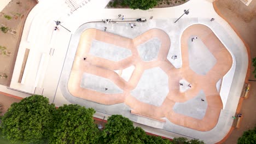
<path id="1" fill-rule="evenodd" d="M 3 135 L 11 142 L 38 143 L 49 135 L 55 106 L 42 95 L 13 103 L 2 117 Z"/>

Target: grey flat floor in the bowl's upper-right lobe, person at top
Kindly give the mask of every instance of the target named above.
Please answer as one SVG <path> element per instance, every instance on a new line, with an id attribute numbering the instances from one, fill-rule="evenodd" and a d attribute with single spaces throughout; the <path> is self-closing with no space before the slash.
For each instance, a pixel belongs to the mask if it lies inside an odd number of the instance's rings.
<path id="1" fill-rule="evenodd" d="M 195 38 L 192 41 L 192 38 Z M 206 75 L 212 69 L 217 60 L 208 50 L 202 40 L 195 35 L 188 39 L 189 50 L 189 67 L 195 71 L 196 74 Z"/>

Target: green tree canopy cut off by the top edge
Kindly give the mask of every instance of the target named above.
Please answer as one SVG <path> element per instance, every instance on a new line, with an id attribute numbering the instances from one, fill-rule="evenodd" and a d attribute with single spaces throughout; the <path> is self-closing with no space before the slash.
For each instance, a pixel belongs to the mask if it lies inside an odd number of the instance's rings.
<path id="1" fill-rule="evenodd" d="M 147 10 L 155 7 L 158 0 L 123 0 L 122 5 L 128 5 L 131 9 Z"/>

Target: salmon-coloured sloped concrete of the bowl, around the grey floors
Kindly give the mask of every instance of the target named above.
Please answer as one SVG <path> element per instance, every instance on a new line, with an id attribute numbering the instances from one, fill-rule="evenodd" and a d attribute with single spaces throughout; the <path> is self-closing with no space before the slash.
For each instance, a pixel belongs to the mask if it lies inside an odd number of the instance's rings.
<path id="1" fill-rule="evenodd" d="M 189 46 L 189 41 L 194 35 L 202 41 L 216 59 L 216 63 L 205 75 L 197 74 L 190 68 L 191 59 L 189 58 L 189 49 L 191 47 Z M 157 58 L 146 62 L 141 58 L 137 47 L 152 39 L 160 40 L 159 52 Z M 100 43 L 123 47 L 125 48 L 124 51 L 131 51 L 131 56 L 127 55 L 127 57 L 120 61 L 110 61 L 107 58 L 91 55 L 90 49 L 95 40 L 100 41 Z M 131 107 L 132 112 L 136 113 L 136 115 L 149 117 L 162 122 L 165 122 L 162 118 L 167 118 L 172 123 L 183 127 L 199 131 L 209 131 L 217 124 L 220 110 L 223 109 L 216 83 L 228 73 L 232 65 L 232 57 L 211 29 L 205 25 L 192 25 L 183 32 L 181 37 L 182 68 L 180 69 L 174 68 L 167 60 L 168 50 L 178 49 L 178 47 L 170 47 L 170 45 L 170 38 L 160 29 L 150 29 L 135 39 L 121 37 L 120 35 L 100 31 L 95 28 L 86 29 L 82 33 L 77 47 L 68 81 L 68 90 L 74 97 L 94 101 L 103 105 L 125 103 Z M 104 52 L 106 51 L 102 51 L 102 53 Z M 84 58 L 86 59 L 84 60 Z M 121 77 L 121 73 L 116 73 L 117 70 L 124 71 L 124 69 L 132 65 L 135 69 L 128 81 Z M 161 105 L 143 102 L 132 95 L 133 91 L 137 89 L 143 74 L 147 70 L 155 68 L 158 68 L 158 71 L 164 71 L 168 77 L 168 86 L 166 86 L 167 94 L 164 100 L 161 101 Z M 89 76 L 95 75 L 106 81 L 109 80 L 123 92 L 108 93 L 108 89 L 105 92 L 104 90 L 96 91 L 95 89 L 85 88 L 82 83 L 91 80 L 84 79 L 85 74 Z M 191 84 L 191 87 L 185 92 L 181 92 L 180 90 L 181 86 L 179 82 L 181 80 L 186 80 Z M 203 91 L 206 96 L 205 101 L 202 101 L 202 103 L 207 103 L 207 109 L 202 119 L 182 115 L 173 111 L 173 106 L 176 103 L 186 103 L 195 98 L 200 91 Z"/>

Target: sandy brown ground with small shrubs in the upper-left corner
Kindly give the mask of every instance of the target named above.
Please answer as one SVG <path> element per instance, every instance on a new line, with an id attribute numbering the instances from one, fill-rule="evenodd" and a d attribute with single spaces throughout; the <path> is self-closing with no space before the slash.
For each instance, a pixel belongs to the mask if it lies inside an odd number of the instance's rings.
<path id="1" fill-rule="evenodd" d="M 10 83 L 24 23 L 28 13 L 36 4 L 34 0 L 13 0 L 0 13 L 0 23 L 17 31 L 15 35 L 0 32 L 0 45 L 7 47 L 11 52 L 11 56 L 0 55 L 0 73 L 8 76 L 7 79 L 0 79 L 0 85 L 8 86 Z M 6 19 L 4 15 L 11 16 L 11 19 Z"/>

